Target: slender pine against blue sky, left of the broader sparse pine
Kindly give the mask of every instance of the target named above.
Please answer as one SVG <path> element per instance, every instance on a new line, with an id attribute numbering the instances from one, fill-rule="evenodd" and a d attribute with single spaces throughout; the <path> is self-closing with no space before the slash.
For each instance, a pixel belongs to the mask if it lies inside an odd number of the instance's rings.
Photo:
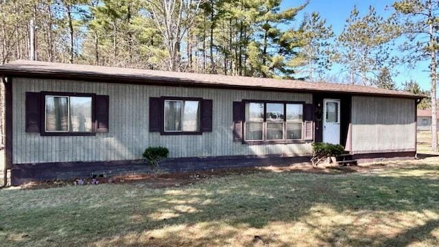
<path id="1" fill-rule="evenodd" d="M 326 25 L 326 20 L 320 17 L 318 12 L 305 14 L 300 27 L 302 31 L 302 54 L 307 60 L 308 80 L 315 80 L 315 74 L 321 80 L 324 71 L 331 67 L 330 56 L 332 54 L 329 42 L 334 33 L 332 26 Z"/>

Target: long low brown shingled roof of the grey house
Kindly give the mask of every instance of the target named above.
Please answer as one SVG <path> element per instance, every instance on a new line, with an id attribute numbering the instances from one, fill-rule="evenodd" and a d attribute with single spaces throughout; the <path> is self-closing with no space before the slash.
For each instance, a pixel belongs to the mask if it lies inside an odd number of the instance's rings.
<path id="1" fill-rule="evenodd" d="M 0 75 L 89 80 L 135 84 L 157 84 L 162 86 L 202 86 L 224 89 L 247 89 L 265 91 L 306 91 L 350 93 L 355 95 L 381 95 L 388 97 L 423 98 L 404 91 L 378 89 L 371 86 L 336 84 L 327 82 L 303 82 L 270 78 L 250 78 L 232 75 L 211 75 L 147 69 L 127 69 L 58 62 L 16 60 L 0 66 Z"/>

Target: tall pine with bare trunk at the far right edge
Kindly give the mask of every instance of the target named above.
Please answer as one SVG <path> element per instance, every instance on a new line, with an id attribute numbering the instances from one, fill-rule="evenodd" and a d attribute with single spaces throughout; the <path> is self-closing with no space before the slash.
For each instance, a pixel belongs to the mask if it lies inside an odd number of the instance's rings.
<path id="1" fill-rule="evenodd" d="M 439 51 L 439 1 L 438 0 L 401 0 L 393 4 L 398 30 L 406 38 L 401 50 L 406 51 L 403 62 L 416 64 L 429 61 L 431 78 L 431 129 L 437 129 L 436 83 Z M 431 150 L 438 152 L 438 132 L 433 131 Z"/>

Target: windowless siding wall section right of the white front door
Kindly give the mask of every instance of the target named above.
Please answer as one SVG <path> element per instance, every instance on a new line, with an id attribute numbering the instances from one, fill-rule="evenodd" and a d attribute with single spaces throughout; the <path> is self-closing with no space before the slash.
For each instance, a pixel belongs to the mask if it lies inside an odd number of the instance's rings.
<path id="1" fill-rule="evenodd" d="M 416 149 L 414 99 L 352 97 L 352 152 Z"/>

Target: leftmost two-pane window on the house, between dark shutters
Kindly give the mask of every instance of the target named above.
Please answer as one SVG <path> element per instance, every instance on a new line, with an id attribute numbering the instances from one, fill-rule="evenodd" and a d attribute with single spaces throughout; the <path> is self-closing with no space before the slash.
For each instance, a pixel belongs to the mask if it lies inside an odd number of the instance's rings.
<path id="1" fill-rule="evenodd" d="M 45 95 L 45 132 L 92 132 L 91 96 Z"/>

